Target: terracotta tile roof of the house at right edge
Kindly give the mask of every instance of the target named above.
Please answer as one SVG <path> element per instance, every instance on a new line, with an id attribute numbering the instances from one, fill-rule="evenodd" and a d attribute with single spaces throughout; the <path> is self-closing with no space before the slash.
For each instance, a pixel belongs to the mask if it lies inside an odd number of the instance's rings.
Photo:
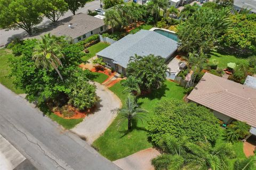
<path id="1" fill-rule="evenodd" d="M 205 73 L 188 99 L 256 127 L 256 90 Z"/>

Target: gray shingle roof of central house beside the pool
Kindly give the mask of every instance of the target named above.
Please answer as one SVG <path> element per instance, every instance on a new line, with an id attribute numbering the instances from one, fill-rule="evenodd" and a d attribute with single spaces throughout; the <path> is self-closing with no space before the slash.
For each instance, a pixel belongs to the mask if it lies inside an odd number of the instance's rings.
<path id="1" fill-rule="evenodd" d="M 129 59 L 134 54 L 146 56 L 149 54 L 169 57 L 178 48 L 178 42 L 157 32 L 140 30 L 134 35 L 127 35 L 111 46 L 101 50 L 97 55 L 113 59 L 126 68 Z"/>

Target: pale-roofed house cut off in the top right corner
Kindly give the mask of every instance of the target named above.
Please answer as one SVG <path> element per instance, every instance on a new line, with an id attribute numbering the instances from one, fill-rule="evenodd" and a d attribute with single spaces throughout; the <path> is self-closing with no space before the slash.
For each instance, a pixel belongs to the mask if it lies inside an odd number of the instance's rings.
<path id="1" fill-rule="evenodd" d="M 251 10 L 250 13 L 256 13 L 256 0 L 234 0 L 234 9 L 237 12 L 247 9 Z"/>

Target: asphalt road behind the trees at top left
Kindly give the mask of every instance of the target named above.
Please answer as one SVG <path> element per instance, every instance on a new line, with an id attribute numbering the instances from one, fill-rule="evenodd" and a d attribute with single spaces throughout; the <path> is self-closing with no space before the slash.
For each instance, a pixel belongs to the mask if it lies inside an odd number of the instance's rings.
<path id="1" fill-rule="evenodd" d="M 95 1 L 87 3 L 83 8 L 80 8 L 76 13 L 81 13 L 81 12 L 87 13 L 87 10 L 93 11 L 99 7 L 100 7 L 100 1 L 95 0 Z M 71 16 L 71 15 L 73 15 L 73 14 L 70 11 L 68 11 L 64 16 L 61 16 L 61 18 L 59 20 L 61 20 L 63 18 L 67 18 L 68 16 Z M 51 23 L 51 21 L 47 18 L 44 18 L 44 20 L 39 25 L 37 25 L 37 27 L 40 25 L 46 25 L 49 23 Z M 28 34 L 23 29 L 9 30 L 9 31 L 1 29 L 0 30 L 0 47 L 4 46 L 7 42 L 11 41 L 11 39 L 14 38 L 15 36 L 27 37 Z"/>

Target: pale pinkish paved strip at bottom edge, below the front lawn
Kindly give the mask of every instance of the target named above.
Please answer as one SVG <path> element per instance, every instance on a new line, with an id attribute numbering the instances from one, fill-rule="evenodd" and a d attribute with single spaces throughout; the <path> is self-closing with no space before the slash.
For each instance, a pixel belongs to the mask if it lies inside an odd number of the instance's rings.
<path id="1" fill-rule="evenodd" d="M 154 148 L 148 148 L 125 158 L 115 160 L 113 163 L 124 170 L 154 170 L 150 160 L 157 155 L 160 155 L 159 151 Z"/>

